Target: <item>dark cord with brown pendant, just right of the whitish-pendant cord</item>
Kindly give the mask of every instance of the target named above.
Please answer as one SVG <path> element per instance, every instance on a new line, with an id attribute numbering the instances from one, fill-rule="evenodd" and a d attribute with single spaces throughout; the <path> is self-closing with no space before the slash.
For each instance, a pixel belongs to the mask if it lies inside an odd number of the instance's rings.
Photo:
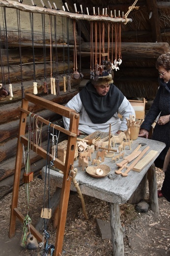
<path id="1" fill-rule="evenodd" d="M 46 65 L 46 40 L 45 40 L 45 15 L 41 15 L 42 18 L 42 37 L 43 37 L 43 55 L 44 55 L 44 93 L 48 94 L 47 83 L 47 65 Z"/>

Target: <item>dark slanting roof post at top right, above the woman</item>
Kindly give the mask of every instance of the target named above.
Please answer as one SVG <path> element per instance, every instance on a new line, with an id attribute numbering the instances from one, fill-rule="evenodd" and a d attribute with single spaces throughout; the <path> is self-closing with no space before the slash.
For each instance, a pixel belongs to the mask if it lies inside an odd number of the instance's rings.
<path id="1" fill-rule="evenodd" d="M 157 0 L 146 0 L 150 17 L 152 41 L 162 42 Z M 152 14 L 151 14 L 152 13 Z"/>

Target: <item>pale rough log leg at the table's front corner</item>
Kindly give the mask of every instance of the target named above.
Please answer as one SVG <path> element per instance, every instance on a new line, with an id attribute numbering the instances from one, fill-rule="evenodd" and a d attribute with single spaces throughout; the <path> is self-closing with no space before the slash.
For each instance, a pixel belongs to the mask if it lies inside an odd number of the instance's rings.
<path id="1" fill-rule="evenodd" d="M 124 256 L 123 234 L 124 230 L 120 223 L 120 206 L 110 203 L 111 233 L 113 243 L 113 255 Z"/>

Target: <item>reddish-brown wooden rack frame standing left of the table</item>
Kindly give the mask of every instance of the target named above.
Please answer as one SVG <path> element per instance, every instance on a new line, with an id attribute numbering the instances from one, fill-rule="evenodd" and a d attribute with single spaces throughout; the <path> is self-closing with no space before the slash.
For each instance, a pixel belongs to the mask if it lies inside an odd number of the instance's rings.
<path id="1" fill-rule="evenodd" d="M 13 185 L 11 216 L 10 216 L 10 225 L 9 225 L 9 238 L 12 238 L 15 235 L 16 217 L 22 223 L 25 219 L 25 216 L 23 216 L 23 214 L 17 208 L 17 205 L 18 205 L 21 165 L 22 165 L 22 156 L 23 156 L 22 154 L 23 144 L 28 145 L 28 139 L 25 137 L 26 121 L 29 114 L 32 117 L 35 115 L 30 111 L 28 111 L 28 102 L 41 105 L 44 108 L 51 110 L 61 116 L 70 118 L 70 127 L 69 127 L 69 130 L 66 130 L 64 128 L 61 128 L 57 125 L 50 123 L 48 120 L 38 117 L 38 120 L 40 120 L 42 123 L 46 125 L 50 124 L 50 127 L 53 127 L 68 135 L 65 163 L 58 159 L 54 161 L 54 165 L 58 169 L 63 171 L 63 184 L 62 184 L 61 196 L 60 196 L 59 216 L 58 216 L 58 223 L 57 223 L 57 234 L 56 234 L 56 243 L 55 243 L 55 252 L 54 252 L 54 256 L 59 256 L 61 255 L 61 251 L 62 251 L 64 229 L 65 229 L 65 223 L 66 223 L 67 207 L 68 207 L 70 185 L 71 185 L 71 178 L 68 179 L 68 177 L 70 175 L 70 170 L 74 162 L 77 130 L 79 125 L 79 114 L 76 113 L 75 110 L 64 107 L 57 103 L 51 102 L 49 100 L 45 100 L 43 98 L 31 95 L 31 94 L 25 94 L 25 98 L 22 100 L 22 106 L 19 107 L 19 109 L 21 110 L 21 116 L 20 116 L 20 127 L 19 127 L 18 144 L 17 144 L 17 155 L 16 155 L 16 162 L 15 162 L 14 185 Z M 33 142 L 31 142 L 30 149 L 35 151 L 42 158 L 46 159 L 47 151 L 35 145 Z M 49 156 L 50 156 L 50 160 L 52 160 L 52 155 L 49 154 Z M 31 224 L 30 224 L 30 231 L 32 235 L 34 235 L 39 242 L 42 241 L 43 236 Z"/>

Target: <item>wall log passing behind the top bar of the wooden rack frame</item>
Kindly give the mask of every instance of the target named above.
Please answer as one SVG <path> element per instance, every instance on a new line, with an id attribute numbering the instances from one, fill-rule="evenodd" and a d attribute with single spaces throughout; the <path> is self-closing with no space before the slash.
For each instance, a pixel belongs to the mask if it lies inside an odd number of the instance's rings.
<path id="1" fill-rule="evenodd" d="M 66 93 L 63 93 L 63 91 L 60 92 L 59 96 L 54 96 L 49 94 L 42 97 L 45 99 L 51 100 L 55 103 L 63 105 L 67 103 L 77 93 L 78 93 L 78 90 L 71 89 L 71 92 L 66 92 Z M 21 106 L 21 101 L 9 103 L 7 106 L 6 104 L 1 105 L 0 106 L 0 117 L 1 117 L 0 124 L 5 124 L 5 123 L 8 123 L 9 121 L 18 120 L 20 117 L 20 111 L 18 110 L 18 107 L 20 106 Z M 42 111 L 44 109 L 41 106 L 30 103 L 28 110 L 36 114 L 38 111 Z"/>

